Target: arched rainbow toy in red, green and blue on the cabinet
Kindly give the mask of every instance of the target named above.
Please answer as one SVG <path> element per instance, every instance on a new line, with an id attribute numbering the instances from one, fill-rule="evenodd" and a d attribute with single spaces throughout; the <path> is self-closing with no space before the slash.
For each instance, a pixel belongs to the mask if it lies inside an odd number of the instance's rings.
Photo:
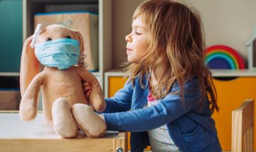
<path id="1" fill-rule="evenodd" d="M 205 50 L 205 65 L 211 69 L 244 69 L 243 58 L 236 50 L 214 45 Z"/>

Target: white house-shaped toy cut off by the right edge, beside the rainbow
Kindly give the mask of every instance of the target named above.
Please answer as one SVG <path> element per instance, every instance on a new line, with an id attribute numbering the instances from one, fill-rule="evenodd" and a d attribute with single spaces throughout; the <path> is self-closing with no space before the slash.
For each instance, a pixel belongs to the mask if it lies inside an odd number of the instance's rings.
<path id="1" fill-rule="evenodd" d="M 248 53 L 248 68 L 256 69 L 256 27 L 253 29 L 252 37 L 246 42 Z"/>

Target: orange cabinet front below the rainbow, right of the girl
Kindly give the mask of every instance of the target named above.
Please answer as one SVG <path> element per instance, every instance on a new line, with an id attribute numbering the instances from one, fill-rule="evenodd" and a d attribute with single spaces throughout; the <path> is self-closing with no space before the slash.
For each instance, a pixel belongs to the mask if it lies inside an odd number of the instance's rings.
<path id="1" fill-rule="evenodd" d="M 253 77 L 237 77 L 232 80 L 215 79 L 214 84 L 218 93 L 220 112 L 214 112 L 212 118 L 216 122 L 223 150 L 229 151 L 231 150 L 232 110 L 237 109 L 245 99 L 256 99 L 256 75 Z M 253 144 L 256 146 L 255 141 Z"/>

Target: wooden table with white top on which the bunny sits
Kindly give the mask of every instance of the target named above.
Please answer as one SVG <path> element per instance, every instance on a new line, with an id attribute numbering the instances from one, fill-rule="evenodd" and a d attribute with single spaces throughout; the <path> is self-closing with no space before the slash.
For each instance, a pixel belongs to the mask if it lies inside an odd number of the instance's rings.
<path id="1" fill-rule="evenodd" d="M 127 151 L 127 133 L 110 132 L 90 139 L 79 131 L 74 139 L 61 139 L 46 125 L 42 113 L 24 122 L 17 112 L 0 112 L 0 152 Z"/>

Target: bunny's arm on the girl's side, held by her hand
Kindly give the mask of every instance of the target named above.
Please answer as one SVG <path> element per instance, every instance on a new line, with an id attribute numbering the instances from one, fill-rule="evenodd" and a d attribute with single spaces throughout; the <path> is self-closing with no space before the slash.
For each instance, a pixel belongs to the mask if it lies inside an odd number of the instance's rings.
<path id="1" fill-rule="evenodd" d="M 105 110 L 106 102 L 104 100 L 103 92 L 97 78 L 92 73 L 88 72 L 88 70 L 79 66 L 76 66 L 76 72 L 82 80 L 92 84 L 92 93 L 89 99 L 90 105 L 92 105 L 93 109 L 97 110 L 98 112 Z"/>

